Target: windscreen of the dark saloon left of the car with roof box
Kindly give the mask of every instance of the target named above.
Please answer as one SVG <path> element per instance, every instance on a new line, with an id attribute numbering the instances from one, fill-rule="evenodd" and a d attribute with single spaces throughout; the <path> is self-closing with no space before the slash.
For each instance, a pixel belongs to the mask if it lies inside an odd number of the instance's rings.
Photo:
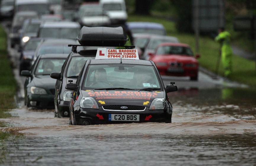
<path id="1" fill-rule="evenodd" d="M 65 60 L 64 58 L 40 59 L 35 69 L 35 75 L 50 75 L 51 72 L 60 72 Z"/>

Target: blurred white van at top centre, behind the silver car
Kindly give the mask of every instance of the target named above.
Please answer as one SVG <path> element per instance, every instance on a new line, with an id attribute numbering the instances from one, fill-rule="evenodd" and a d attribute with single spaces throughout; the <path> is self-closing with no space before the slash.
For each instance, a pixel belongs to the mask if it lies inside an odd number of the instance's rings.
<path id="1" fill-rule="evenodd" d="M 124 0 L 99 0 L 105 14 L 110 17 L 112 25 L 123 25 L 127 20 Z"/>

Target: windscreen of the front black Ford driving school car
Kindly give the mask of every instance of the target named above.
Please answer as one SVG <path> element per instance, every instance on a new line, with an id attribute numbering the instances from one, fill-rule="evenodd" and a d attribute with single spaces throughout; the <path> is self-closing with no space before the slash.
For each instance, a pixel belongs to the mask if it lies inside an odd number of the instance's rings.
<path id="1" fill-rule="evenodd" d="M 146 89 L 161 88 L 153 66 L 134 64 L 89 65 L 82 89 L 117 88 Z"/>

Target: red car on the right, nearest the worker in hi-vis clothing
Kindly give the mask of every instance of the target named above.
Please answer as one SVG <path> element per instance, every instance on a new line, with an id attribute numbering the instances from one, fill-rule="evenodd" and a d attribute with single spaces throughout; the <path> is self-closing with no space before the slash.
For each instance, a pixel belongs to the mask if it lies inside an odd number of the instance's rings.
<path id="1" fill-rule="evenodd" d="M 183 43 L 159 44 L 155 53 L 149 53 L 149 60 L 154 61 L 161 75 L 189 76 L 198 79 L 200 55 L 194 54 L 189 45 Z"/>

